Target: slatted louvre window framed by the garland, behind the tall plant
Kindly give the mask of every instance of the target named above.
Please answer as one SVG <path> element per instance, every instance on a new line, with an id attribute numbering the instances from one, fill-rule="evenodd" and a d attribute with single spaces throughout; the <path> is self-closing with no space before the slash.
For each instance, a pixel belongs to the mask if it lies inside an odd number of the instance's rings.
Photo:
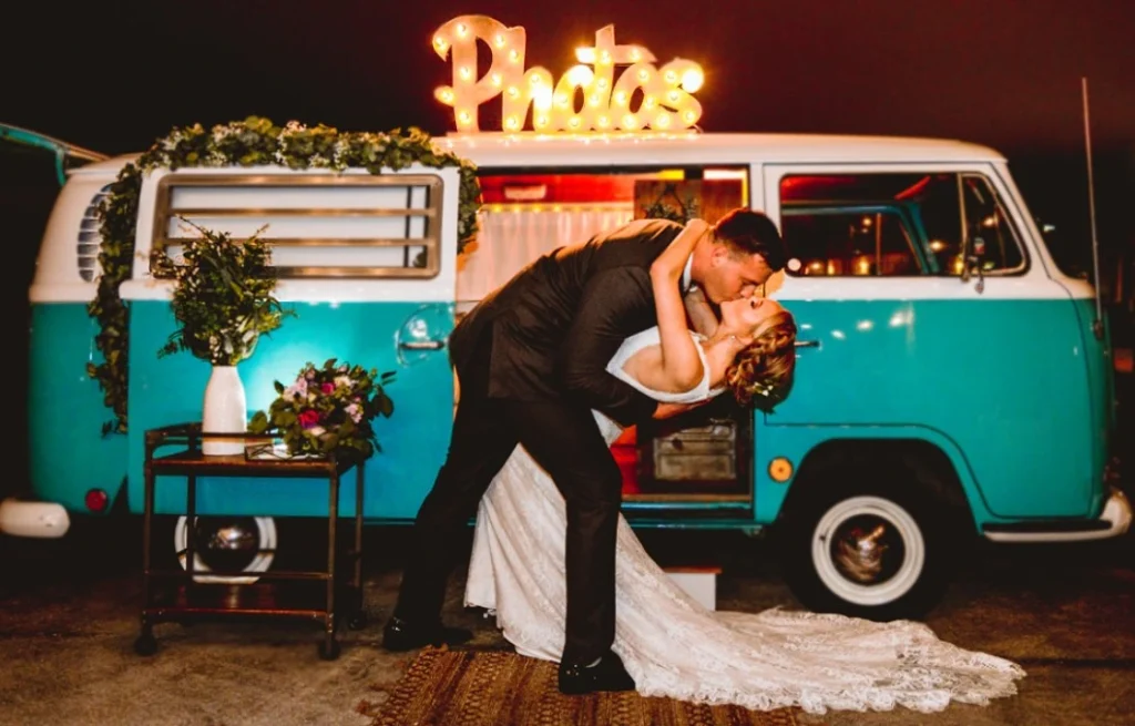
<path id="1" fill-rule="evenodd" d="M 151 248 L 177 260 L 197 225 L 259 231 L 280 278 L 432 278 L 440 204 L 429 174 L 171 174 L 158 182 Z"/>

